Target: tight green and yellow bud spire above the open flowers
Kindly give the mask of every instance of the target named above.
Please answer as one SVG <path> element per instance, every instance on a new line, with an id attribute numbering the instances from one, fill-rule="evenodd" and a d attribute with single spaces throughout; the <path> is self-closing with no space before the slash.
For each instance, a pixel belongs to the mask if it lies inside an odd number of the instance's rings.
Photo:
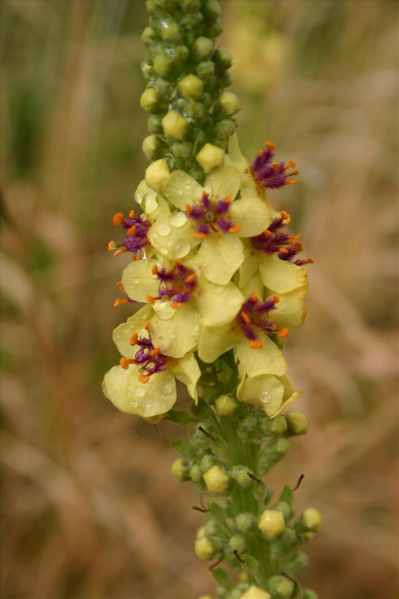
<path id="1" fill-rule="evenodd" d="M 232 83 L 232 57 L 226 48 L 215 48 L 223 31 L 221 8 L 216 0 L 147 0 L 147 10 L 142 34 L 147 87 L 140 104 L 151 135 L 143 152 L 202 182 L 217 163 L 199 153 L 206 144 L 208 153 L 226 150 L 239 110 L 237 97 L 224 91 Z"/>

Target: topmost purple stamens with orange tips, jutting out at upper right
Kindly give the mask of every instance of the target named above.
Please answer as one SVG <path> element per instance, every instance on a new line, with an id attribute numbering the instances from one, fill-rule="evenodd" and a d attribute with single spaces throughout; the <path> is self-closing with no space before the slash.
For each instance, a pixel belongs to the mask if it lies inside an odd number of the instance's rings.
<path id="1" fill-rule="evenodd" d="M 288 161 L 287 164 L 284 162 L 272 162 L 273 156 L 275 155 L 273 150 L 276 146 L 273 141 L 266 141 L 264 145 L 266 150 L 260 150 L 255 156 L 251 167 L 252 174 L 257 180 L 257 183 L 259 183 L 261 187 L 269 187 L 270 189 L 277 189 L 284 185 L 296 184 L 296 179 L 291 181 L 287 180 L 288 177 L 299 174 L 298 170 L 291 171 L 291 173 L 287 172 L 289 168 L 296 167 L 295 162 L 292 160 Z"/>

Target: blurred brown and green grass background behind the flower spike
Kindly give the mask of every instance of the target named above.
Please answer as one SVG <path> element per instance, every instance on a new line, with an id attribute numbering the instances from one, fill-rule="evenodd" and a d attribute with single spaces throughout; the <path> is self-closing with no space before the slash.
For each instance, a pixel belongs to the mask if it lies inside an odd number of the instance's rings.
<path id="1" fill-rule="evenodd" d="M 225 0 L 248 157 L 300 182 L 290 211 L 309 313 L 288 363 L 306 438 L 270 476 L 324 515 L 301 575 L 321 599 L 397 588 L 397 25 L 391 0 Z M 196 492 L 174 452 L 102 396 L 127 258 L 116 211 L 146 161 L 142 0 L 2 0 L 2 597 L 195 599 Z M 163 434 L 176 434 L 161 425 Z"/>

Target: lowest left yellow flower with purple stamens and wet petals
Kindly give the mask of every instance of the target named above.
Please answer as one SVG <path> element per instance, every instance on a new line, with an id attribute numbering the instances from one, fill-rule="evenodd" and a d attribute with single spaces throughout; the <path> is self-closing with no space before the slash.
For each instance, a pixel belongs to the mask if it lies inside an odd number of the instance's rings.
<path id="1" fill-rule="evenodd" d="M 103 393 L 121 412 L 143 418 L 168 412 L 176 401 L 176 379 L 197 401 L 200 370 L 193 353 L 170 358 L 154 347 L 148 334 L 153 316 L 150 305 L 114 330 L 114 342 L 123 358 L 105 374 Z"/>

